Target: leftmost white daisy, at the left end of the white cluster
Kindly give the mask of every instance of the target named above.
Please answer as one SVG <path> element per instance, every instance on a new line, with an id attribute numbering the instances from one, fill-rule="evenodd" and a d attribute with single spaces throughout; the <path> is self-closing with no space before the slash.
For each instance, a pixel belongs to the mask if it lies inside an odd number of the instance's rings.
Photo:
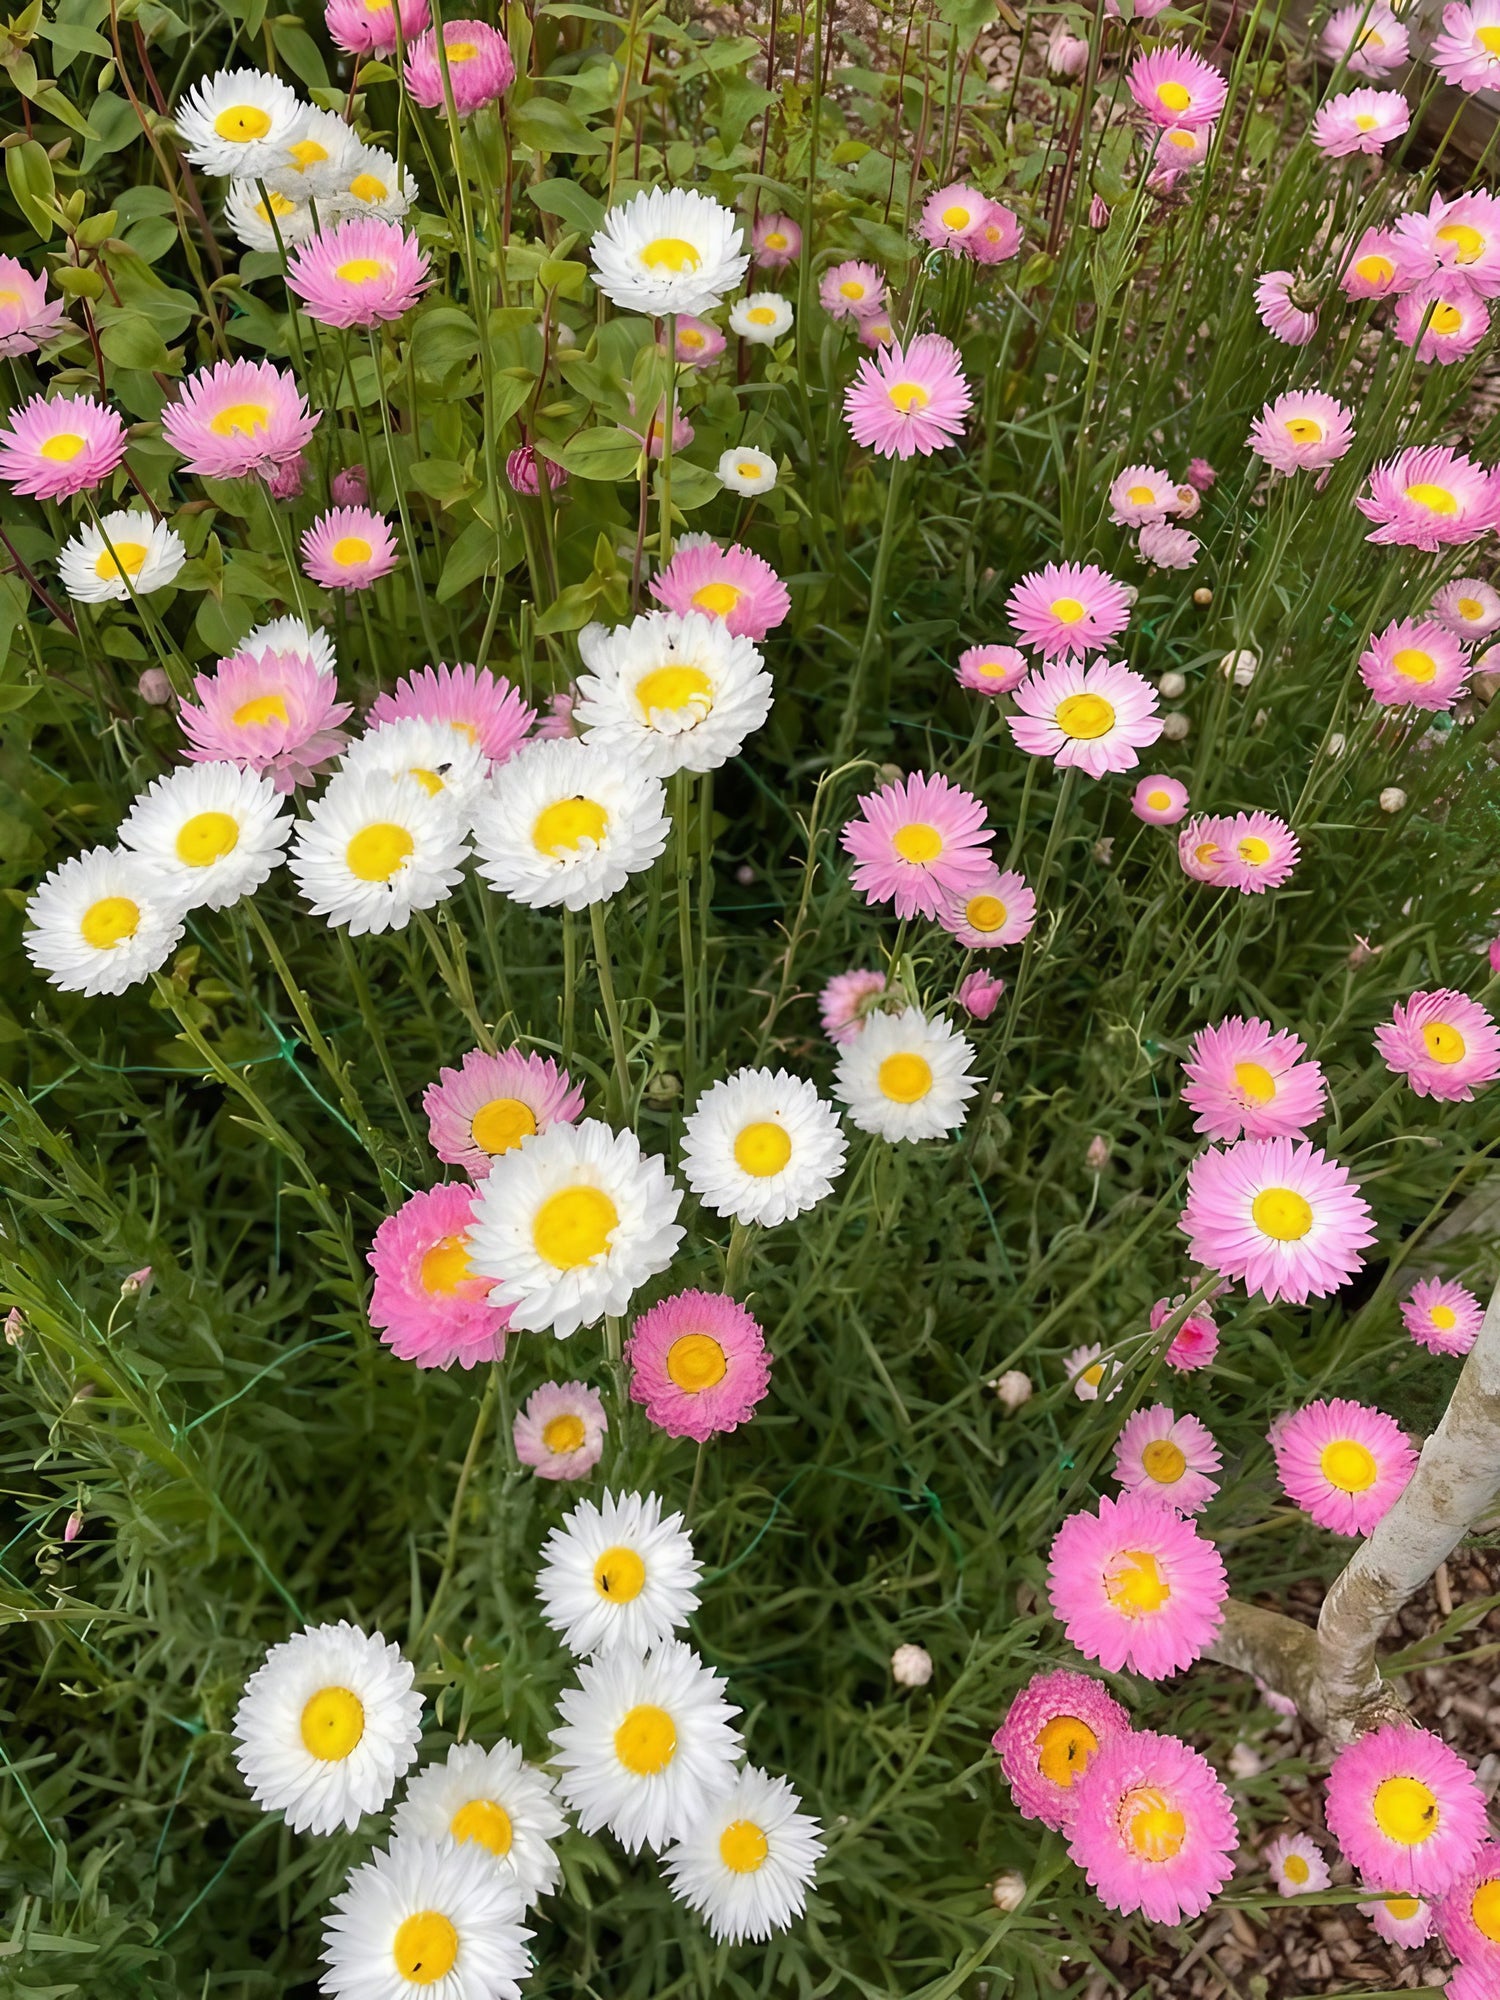
<path id="1" fill-rule="evenodd" d="M 66 994 L 122 994 L 182 938 L 182 898 L 138 854 L 90 848 L 62 862 L 26 904 L 26 956 Z"/>

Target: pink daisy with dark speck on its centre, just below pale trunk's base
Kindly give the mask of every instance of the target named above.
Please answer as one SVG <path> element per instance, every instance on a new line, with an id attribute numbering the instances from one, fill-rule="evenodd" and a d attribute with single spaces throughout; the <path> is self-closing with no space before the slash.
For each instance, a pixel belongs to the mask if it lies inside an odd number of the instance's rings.
<path id="1" fill-rule="evenodd" d="M 1474 1772 L 1410 1722 L 1386 1722 L 1338 1752 L 1324 1818 L 1358 1876 L 1408 1896 L 1442 1896 L 1486 1834 Z"/>

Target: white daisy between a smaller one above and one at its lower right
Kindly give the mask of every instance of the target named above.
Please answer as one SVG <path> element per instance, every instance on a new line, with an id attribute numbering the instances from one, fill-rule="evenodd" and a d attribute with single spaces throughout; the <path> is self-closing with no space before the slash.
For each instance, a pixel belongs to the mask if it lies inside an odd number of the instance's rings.
<path id="1" fill-rule="evenodd" d="M 586 1834 L 608 1826 L 628 1854 L 680 1840 L 704 1802 L 734 1784 L 740 1710 L 680 1638 L 648 1654 L 584 1660 L 558 1714 L 558 1790 Z"/>

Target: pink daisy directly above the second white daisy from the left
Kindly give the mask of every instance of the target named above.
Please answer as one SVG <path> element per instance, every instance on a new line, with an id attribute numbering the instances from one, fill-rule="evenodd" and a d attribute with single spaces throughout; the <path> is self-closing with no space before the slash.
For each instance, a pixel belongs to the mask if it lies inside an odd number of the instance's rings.
<path id="1" fill-rule="evenodd" d="M 198 700 L 178 710 L 188 762 L 228 758 L 268 772 L 278 792 L 310 784 L 348 740 L 338 724 L 350 704 L 338 700 L 334 676 L 306 652 L 232 652 L 212 674 L 198 674 L 192 692 Z"/>

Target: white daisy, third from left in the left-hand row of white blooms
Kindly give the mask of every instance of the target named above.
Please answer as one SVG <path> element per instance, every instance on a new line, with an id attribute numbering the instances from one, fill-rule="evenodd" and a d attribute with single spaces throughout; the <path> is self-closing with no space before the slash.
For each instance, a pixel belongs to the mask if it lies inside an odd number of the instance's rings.
<path id="1" fill-rule="evenodd" d="M 404 930 L 464 878 L 468 842 L 454 802 L 416 778 L 340 772 L 298 824 L 286 866 L 314 916 L 352 938 Z"/>

